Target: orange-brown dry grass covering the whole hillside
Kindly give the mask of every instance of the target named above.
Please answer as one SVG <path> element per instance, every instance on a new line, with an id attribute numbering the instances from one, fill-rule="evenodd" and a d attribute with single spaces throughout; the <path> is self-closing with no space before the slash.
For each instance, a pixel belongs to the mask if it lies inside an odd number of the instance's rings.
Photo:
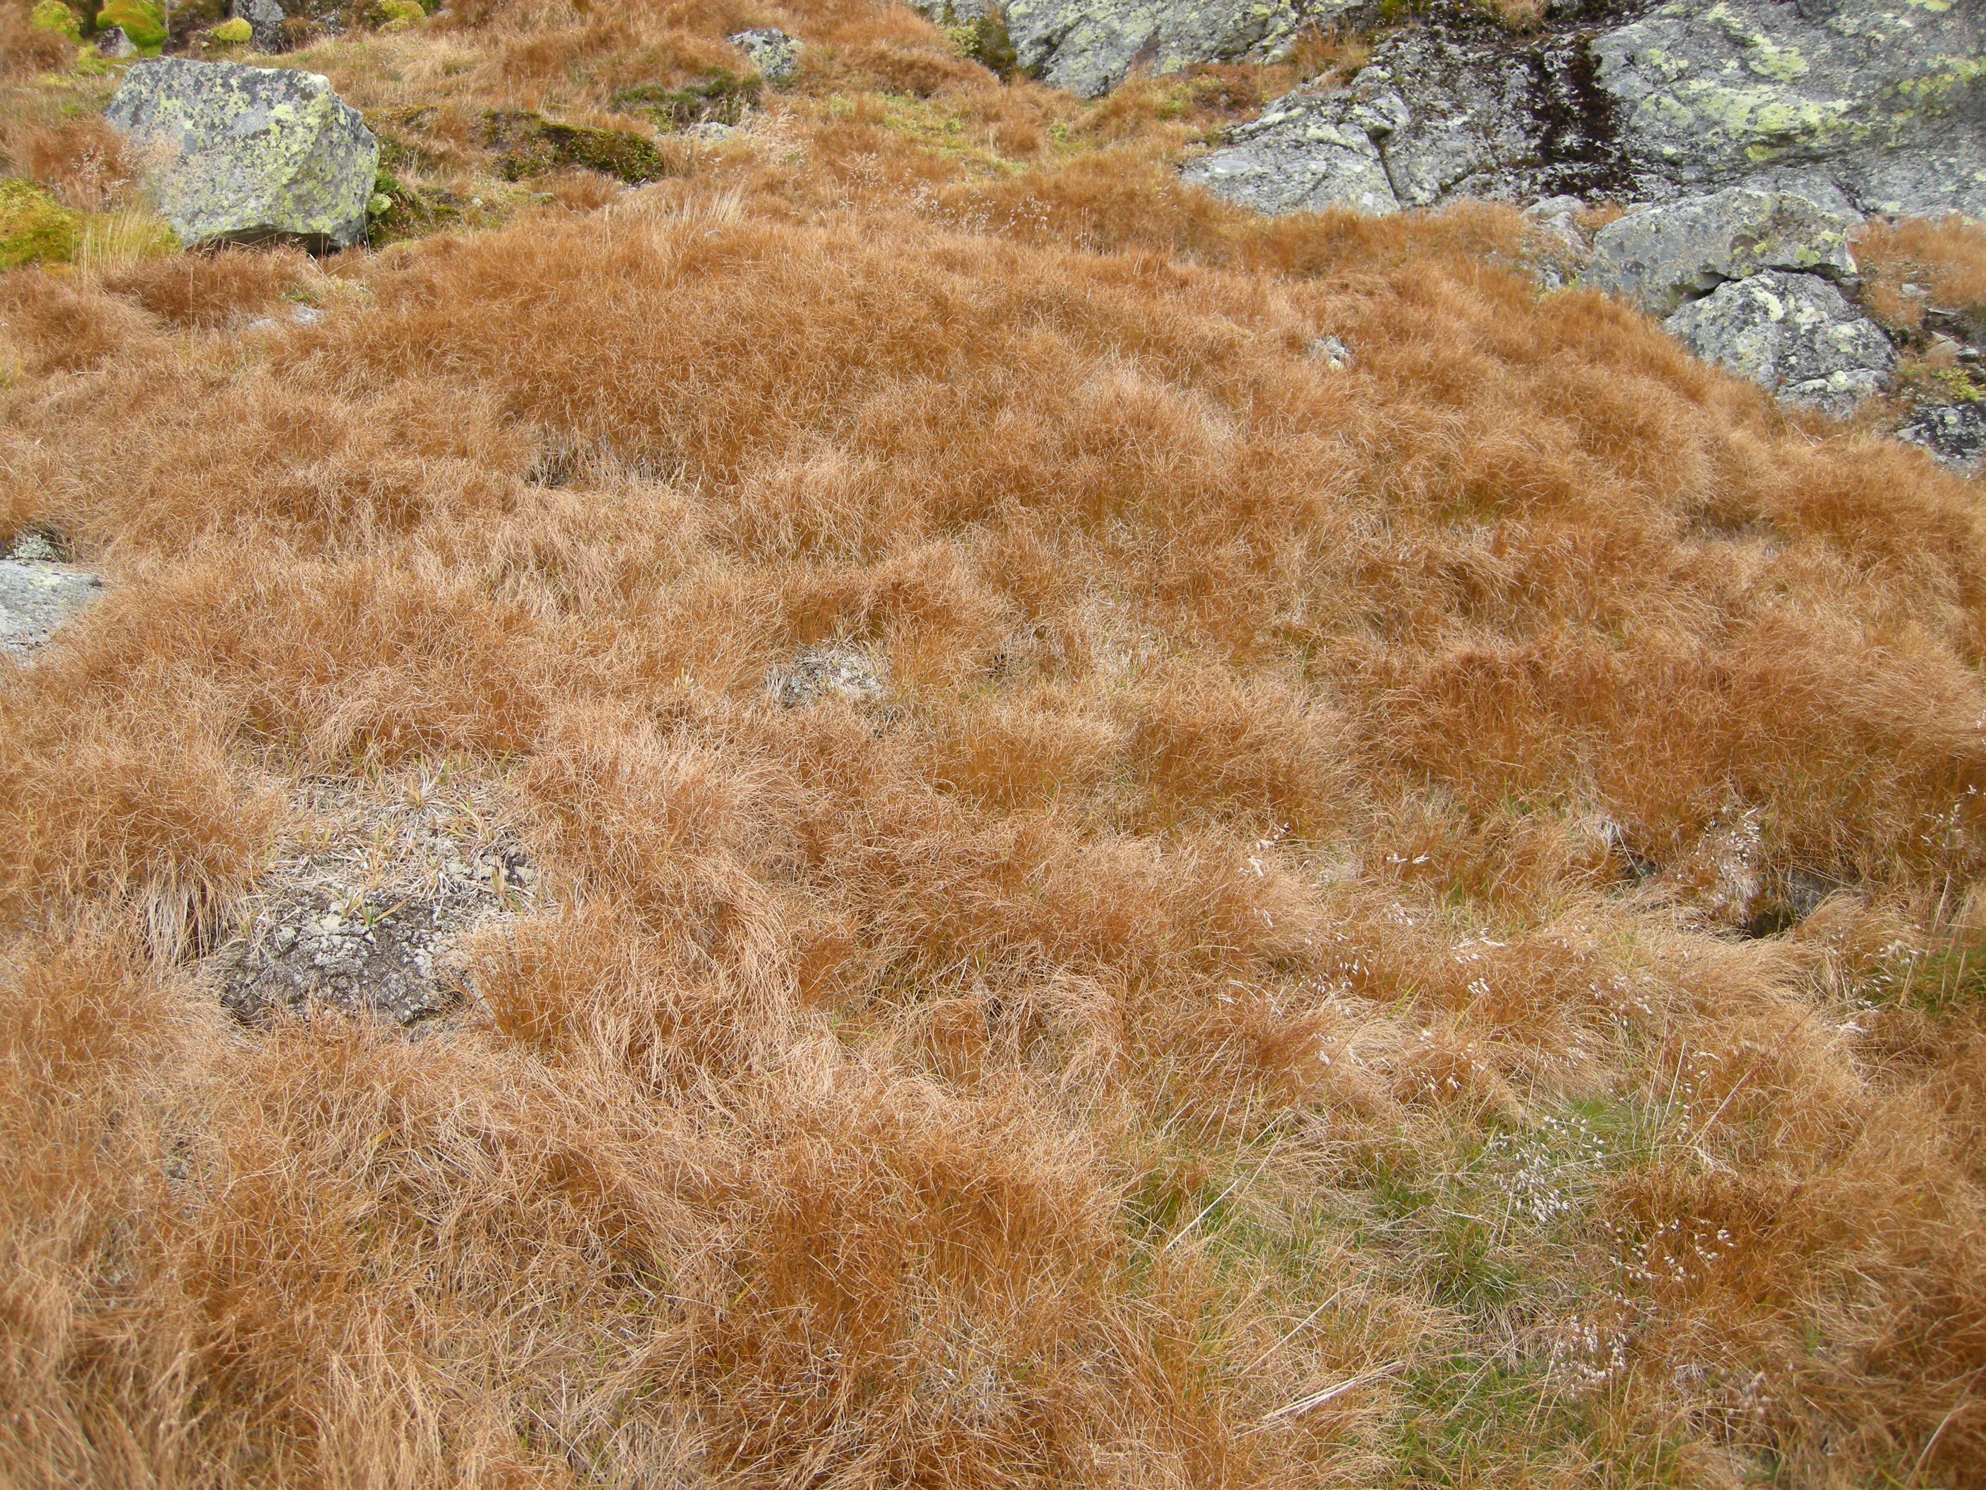
<path id="1" fill-rule="evenodd" d="M 1986 1486 L 1976 481 L 1515 211 L 1182 189 L 1297 64 L 455 0 L 278 60 L 387 141 L 312 260 L 24 18 L 0 1484 Z M 445 1017 L 228 1013 L 443 819 Z"/>

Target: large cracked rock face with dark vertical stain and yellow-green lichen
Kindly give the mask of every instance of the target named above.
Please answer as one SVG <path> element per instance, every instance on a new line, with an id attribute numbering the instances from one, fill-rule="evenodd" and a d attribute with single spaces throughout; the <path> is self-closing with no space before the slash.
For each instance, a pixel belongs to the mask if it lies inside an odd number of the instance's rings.
<path id="1" fill-rule="evenodd" d="M 1376 161 L 1398 207 L 1660 203 L 1742 183 L 1837 213 L 1986 215 L 1978 4 L 1591 0 L 1555 16 L 1511 36 L 1438 12 L 1386 38 L 1354 79 L 1368 109 L 1388 99 L 1376 115 L 1299 89 L 1188 179 L 1261 211 L 1384 203 Z M 1345 137 L 1360 125 L 1364 143 Z M 1345 195 L 1329 197 L 1333 181 Z"/>

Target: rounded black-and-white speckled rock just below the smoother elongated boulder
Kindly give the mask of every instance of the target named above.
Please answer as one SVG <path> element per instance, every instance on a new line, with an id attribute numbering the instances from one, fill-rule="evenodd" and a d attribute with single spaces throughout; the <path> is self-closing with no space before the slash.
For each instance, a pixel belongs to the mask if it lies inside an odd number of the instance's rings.
<path id="1" fill-rule="evenodd" d="M 1847 413 L 1897 362 L 1883 330 L 1815 274 L 1764 270 L 1692 300 L 1662 326 L 1704 362 L 1783 403 Z"/>

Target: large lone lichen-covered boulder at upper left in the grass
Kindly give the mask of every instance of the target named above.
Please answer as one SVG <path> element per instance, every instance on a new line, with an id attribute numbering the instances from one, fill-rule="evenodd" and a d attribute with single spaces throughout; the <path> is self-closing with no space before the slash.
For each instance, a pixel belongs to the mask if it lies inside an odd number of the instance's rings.
<path id="1" fill-rule="evenodd" d="M 314 72 L 151 58 L 125 74 L 105 117 L 139 147 L 183 242 L 365 238 L 379 141 Z"/>

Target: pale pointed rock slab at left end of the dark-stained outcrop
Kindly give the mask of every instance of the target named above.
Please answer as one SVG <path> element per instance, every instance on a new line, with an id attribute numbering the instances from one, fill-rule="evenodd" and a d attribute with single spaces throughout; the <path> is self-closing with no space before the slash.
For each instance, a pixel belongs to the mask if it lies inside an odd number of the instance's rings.
<path id="1" fill-rule="evenodd" d="M 1384 87 L 1289 93 L 1229 131 L 1223 149 L 1180 167 L 1180 179 L 1257 213 L 1396 213 L 1378 141 L 1404 119 Z"/>

